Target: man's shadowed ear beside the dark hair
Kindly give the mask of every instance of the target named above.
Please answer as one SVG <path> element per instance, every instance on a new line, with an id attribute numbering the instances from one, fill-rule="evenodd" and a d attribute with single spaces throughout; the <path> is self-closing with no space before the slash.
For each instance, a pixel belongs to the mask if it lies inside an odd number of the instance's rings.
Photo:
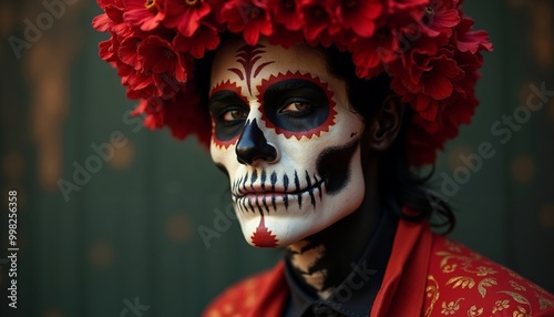
<path id="1" fill-rule="evenodd" d="M 397 140 L 402 125 L 404 106 L 397 95 L 389 95 L 369 122 L 369 147 L 383 152 Z"/>

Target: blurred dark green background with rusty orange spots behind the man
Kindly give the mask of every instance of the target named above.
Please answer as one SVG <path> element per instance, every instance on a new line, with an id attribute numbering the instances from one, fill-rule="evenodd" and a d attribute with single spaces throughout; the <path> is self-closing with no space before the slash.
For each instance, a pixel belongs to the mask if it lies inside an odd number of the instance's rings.
<path id="1" fill-rule="evenodd" d="M 51 13 L 52 2 L 63 10 Z M 554 292 L 554 95 L 536 95 L 554 91 L 554 1 L 464 9 L 495 50 L 473 124 L 448 143 L 433 185 L 458 211 L 453 238 Z M 99 58 L 99 13 L 84 0 L 0 3 L 0 315 L 197 316 L 280 252 L 244 242 L 225 216 L 226 181 L 195 140 L 129 116 L 135 104 Z M 495 154 L 463 172 L 460 157 L 483 142 Z M 19 315 L 4 304 L 12 190 Z"/>

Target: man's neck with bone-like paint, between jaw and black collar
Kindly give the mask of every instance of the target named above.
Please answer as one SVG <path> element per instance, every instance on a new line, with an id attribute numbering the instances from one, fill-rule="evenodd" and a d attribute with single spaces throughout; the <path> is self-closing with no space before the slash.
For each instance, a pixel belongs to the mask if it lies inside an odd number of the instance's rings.
<path id="1" fill-rule="evenodd" d="M 357 263 L 375 231 L 380 212 L 375 172 L 365 171 L 366 195 L 358 209 L 328 228 L 287 247 L 286 259 L 291 264 L 297 279 L 319 298 L 328 298 L 347 278 L 351 265 Z"/>

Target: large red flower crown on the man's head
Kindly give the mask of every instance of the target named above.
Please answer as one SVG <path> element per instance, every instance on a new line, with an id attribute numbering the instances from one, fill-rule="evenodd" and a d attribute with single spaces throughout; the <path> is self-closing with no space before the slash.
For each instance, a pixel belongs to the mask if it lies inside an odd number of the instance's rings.
<path id="1" fill-rule="evenodd" d="M 463 0 L 98 0 L 93 20 L 111 38 L 100 55 L 117 69 L 126 95 L 141 100 L 150 129 L 209 144 L 211 120 L 193 81 L 194 60 L 215 50 L 223 32 L 254 45 L 330 47 L 352 54 L 359 78 L 386 72 L 391 89 L 414 110 L 410 164 L 433 163 L 437 150 L 469 124 L 479 104 L 474 86 L 491 51 L 485 31 L 472 31 Z"/>

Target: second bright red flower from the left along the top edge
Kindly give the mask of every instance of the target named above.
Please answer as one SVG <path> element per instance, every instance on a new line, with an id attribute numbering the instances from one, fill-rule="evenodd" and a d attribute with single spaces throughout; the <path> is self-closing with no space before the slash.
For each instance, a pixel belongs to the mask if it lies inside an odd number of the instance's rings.
<path id="1" fill-rule="evenodd" d="M 167 28 L 177 28 L 185 37 L 192 37 L 201 25 L 202 18 L 206 17 L 211 7 L 203 0 L 166 0 L 167 17 L 164 24 Z"/>

